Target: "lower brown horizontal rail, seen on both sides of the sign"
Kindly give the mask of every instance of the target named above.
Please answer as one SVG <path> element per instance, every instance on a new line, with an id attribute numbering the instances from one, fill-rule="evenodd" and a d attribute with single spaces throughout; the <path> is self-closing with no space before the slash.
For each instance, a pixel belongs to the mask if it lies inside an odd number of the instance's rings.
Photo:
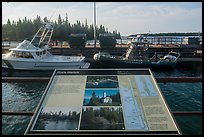
<path id="1" fill-rule="evenodd" d="M 2 111 L 2 115 L 27 115 L 33 116 L 34 112 L 11 112 L 11 111 Z M 193 116 L 193 115 L 202 115 L 201 111 L 172 111 L 173 115 L 182 115 L 182 116 Z"/>

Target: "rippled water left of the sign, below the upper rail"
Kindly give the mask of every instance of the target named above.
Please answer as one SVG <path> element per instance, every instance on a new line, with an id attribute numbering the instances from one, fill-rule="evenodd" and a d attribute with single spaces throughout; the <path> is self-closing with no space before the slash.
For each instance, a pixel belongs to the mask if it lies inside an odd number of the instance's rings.
<path id="1" fill-rule="evenodd" d="M 2 111 L 35 111 L 46 88 L 41 83 L 2 83 Z M 31 116 L 2 116 L 3 135 L 23 135 Z"/>

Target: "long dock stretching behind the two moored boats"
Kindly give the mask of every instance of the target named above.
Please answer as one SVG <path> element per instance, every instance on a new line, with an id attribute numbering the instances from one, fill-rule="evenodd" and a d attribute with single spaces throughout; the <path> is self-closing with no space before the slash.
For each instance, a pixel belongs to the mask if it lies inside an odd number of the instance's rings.
<path id="1" fill-rule="evenodd" d="M 7 53 L 13 46 L 2 47 L 2 53 Z M 83 55 L 88 62 L 94 62 L 93 55 L 100 52 L 107 52 L 111 55 L 123 55 L 128 48 L 127 44 L 117 44 L 114 48 L 101 48 L 100 45 L 86 45 L 84 48 L 70 48 L 69 46 L 52 46 L 51 53 L 53 55 Z M 170 51 L 179 52 L 181 56 L 179 63 L 202 63 L 202 45 L 169 45 L 169 44 L 152 44 L 148 49 L 148 56 L 152 57 L 154 53 L 167 54 Z"/>

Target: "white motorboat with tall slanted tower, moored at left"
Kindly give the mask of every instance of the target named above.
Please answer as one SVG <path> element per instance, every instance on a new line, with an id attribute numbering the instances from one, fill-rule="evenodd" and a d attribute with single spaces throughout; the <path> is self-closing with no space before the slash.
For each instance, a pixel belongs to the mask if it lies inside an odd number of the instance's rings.
<path id="1" fill-rule="evenodd" d="M 24 40 L 10 52 L 2 54 L 2 68 L 19 70 L 54 70 L 89 68 L 84 56 L 52 55 L 49 52 L 49 42 L 54 25 L 44 23 L 33 39 Z"/>

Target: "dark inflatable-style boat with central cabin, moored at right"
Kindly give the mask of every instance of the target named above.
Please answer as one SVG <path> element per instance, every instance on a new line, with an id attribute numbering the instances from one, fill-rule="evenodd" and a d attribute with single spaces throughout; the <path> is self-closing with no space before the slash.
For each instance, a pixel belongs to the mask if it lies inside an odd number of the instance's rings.
<path id="1" fill-rule="evenodd" d="M 133 54 L 134 53 L 134 54 Z M 138 36 L 133 40 L 122 56 L 110 55 L 109 53 L 99 52 L 94 55 L 94 60 L 104 67 L 113 68 L 174 68 L 180 53 L 169 52 L 167 55 L 155 54 L 149 58 L 148 42 L 143 37 Z"/>

